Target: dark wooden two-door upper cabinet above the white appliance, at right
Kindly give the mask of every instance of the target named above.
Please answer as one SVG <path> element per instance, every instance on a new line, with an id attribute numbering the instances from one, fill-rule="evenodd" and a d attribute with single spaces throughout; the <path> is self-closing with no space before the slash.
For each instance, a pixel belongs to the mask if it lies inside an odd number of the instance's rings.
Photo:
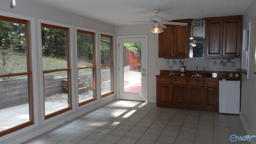
<path id="1" fill-rule="evenodd" d="M 239 57 L 242 47 L 242 16 L 204 19 L 206 57 Z"/>

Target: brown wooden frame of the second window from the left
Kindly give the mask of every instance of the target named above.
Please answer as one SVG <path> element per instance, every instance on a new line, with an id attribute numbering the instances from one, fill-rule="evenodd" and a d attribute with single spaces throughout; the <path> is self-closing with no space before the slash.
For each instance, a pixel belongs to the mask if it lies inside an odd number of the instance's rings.
<path id="1" fill-rule="evenodd" d="M 45 100 L 44 100 L 44 120 L 48 119 L 48 118 L 52 118 L 54 116 L 57 116 L 59 114 L 62 114 L 64 112 L 67 112 L 69 110 L 72 110 L 72 87 L 71 87 L 71 82 L 72 82 L 72 75 L 71 75 L 71 67 L 70 67 L 70 28 L 68 27 L 64 27 L 64 26 L 56 26 L 56 25 L 52 25 L 52 24 L 46 24 L 46 23 L 41 23 L 40 24 L 40 29 L 42 27 L 46 27 L 46 28 L 52 28 L 52 29 L 57 29 L 57 30 L 64 30 L 66 31 L 66 38 L 67 38 L 67 68 L 62 68 L 62 69 L 55 69 L 55 70 L 42 70 L 43 72 L 43 93 L 44 93 L 44 74 L 46 73 L 50 73 L 50 72 L 59 72 L 59 71 L 67 71 L 68 72 L 68 80 L 69 80 L 69 84 L 68 84 L 68 93 L 69 93 L 69 99 L 70 99 L 70 102 L 68 104 L 68 107 L 67 108 L 64 108 L 62 110 L 58 110 L 56 112 L 53 112 L 51 114 L 48 114 L 48 115 L 45 115 Z M 41 30 L 40 30 L 41 31 Z M 42 39 L 42 36 L 41 36 L 41 39 Z M 42 40 L 41 40 L 41 43 L 42 43 Z M 42 44 L 41 44 L 41 47 L 42 47 Z M 45 97 L 45 96 L 44 96 Z"/>

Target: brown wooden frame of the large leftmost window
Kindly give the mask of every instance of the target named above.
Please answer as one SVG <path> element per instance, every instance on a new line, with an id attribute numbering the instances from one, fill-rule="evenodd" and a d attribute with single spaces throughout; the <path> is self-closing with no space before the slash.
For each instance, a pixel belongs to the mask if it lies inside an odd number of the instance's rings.
<path id="1" fill-rule="evenodd" d="M 30 126 L 34 124 L 34 99 L 33 99 L 33 77 L 31 72 L 31 64 L 30 64 L 30 21 L 29 20 L 22 20 L 19 18 L 12 18 L 8 16 L 0 16 L 0 20 L 7 21 L 7 22 L 14 22 L 14 23 L 20 23 L 25 24 L 26 26 L 26 59 L 27 59 L 27 72 L 21 72 L 21 73 L 15 73 L 15 74 L 2 74 L 0 77 L 8 77 L 8 76 L 22 76 L 27 75 L 28 76 L 28 101 L 29 101 L 29 109 L 30 109 L 30 121 L 25 122 L 23 124 L 20 124 L 18 126 L 14 126 L 12 128 L 3 130 L 0 132 L 0 136 L 4 136 L 6 134 L 9 134 L 11 132 L 20 130 L 22 128 L 25 128 L 27 126 Z"/>

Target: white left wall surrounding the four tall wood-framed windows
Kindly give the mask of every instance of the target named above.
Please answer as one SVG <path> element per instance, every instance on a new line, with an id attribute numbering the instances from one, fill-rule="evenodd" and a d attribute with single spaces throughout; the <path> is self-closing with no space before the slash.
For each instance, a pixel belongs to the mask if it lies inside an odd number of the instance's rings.
<path id="1" fill-rule="evenodd" d="M 61 26 L 67 26 L 70 28 L 70 58 L 71 60 L 71 70 L 72 70 L 72 80 L 76 79 L 77 68 L 76 68 L 76 50 L 75 48 L 75 27 L 87 28 L 97 33 L 100 32 L 104 34 L 114 35 L 114 26 L 93 20 L 91 18 L 86 18 L 83 16 L 78 16 L 63 10 L 58 10 L 51 8 L 49 6 L 43 6 L 34 2 L 34 0 L 16 0 L 16 6 L 12 9 L 10 8 L 10 3 L 12 0 L 1 0 L 0 1 L 0 15 L 10 16 L 20 19 L 30 20 L 30 51 L 31 51 L 31 64 L 32 64 L 32 75 L 33 75 L 33 97 L 34 97 L 34 124 L 26 128 L 22 128 L 10 134 L 6 134 L 0 137 L 1 144 L 19 144 L 30 138 L 33 138 L 39 134 L 42 134 L 68 120 L 72 120 L 77 116 L 80 116 L 90 110 L 98 108 L 108 102 L 116 99 L 116 94 L 100 98 L 100 90 L 97 90 L 97 100 L 90 102 L 84 106 L 78 107 L 75 95 L 77 95 L 76 90 L 72 90 L 72 110 L 54 116 L 47 120 L 44 120 L 44 100 L 43 100 L 43 76 L 42 76 L 42 50 L 40 47 L 40 22 L 53 22 L 60 24 Z M 99 36 L 98 36 L 99 37 Z M 96 42 L 100 42 L 99 38 L 96 38 Z M 40 55 L 41 54 L 41 55 Z M 97 55 L 100 56 L 99 54 Z M 98 58 L 97 57 L 97 58 Z M 100 64 L 98 61 L 98 67 Z M 100 72 L 100 71 L 98 71 Z M 97 73 L 99 76 L 100 73 Z M 100 77 L 97 77 L 98 85 L 100 86 Z M 116 84 L 116 82 L 115 82 Z M 72 81 L 72 88 L 77 88 L 77 82 Z"/>

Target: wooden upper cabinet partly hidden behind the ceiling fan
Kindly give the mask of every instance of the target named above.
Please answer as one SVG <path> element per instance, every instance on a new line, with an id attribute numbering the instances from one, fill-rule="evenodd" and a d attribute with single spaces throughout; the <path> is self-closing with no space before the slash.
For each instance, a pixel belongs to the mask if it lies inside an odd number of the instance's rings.
<path id="1" fill-rule="evenodd" d="M 158 34 L 158 57 L 188 58 L 191 19 L 172 20 L 172 22 L 185 22 L 188 25 L 166 25 L 164 32 Z"/>

